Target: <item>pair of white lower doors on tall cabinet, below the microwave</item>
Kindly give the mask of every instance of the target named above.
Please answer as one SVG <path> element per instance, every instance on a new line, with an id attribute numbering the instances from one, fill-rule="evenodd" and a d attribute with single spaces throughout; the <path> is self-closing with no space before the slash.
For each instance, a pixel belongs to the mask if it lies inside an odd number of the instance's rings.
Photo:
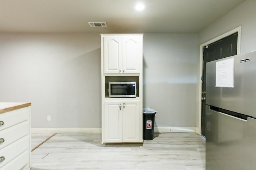
<path id="1" fill-rule="evenodd" d="M 102 143 L 142 142 L 140 101 L 105 101 Z"/>

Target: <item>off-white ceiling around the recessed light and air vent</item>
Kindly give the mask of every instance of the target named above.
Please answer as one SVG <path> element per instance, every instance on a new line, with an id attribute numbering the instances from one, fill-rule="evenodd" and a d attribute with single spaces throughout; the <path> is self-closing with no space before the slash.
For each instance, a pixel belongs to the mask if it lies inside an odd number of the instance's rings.
<path id="1" fill-rule="evenodd" d="M 0 0 L 0 32 L 198 33 L 244 1 Z M 146 9 L 135 11 L 136 2 Z"/>

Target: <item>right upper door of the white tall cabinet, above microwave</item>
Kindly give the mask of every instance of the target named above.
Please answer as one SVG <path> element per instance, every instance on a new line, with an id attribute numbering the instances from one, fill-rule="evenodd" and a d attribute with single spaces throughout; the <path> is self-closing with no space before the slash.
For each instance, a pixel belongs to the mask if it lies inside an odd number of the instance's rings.
<path id="1" fill-rule="evenodd" d="M 140 73 L 142 59 L 142 36 L 129 35 L 122 37 L 122 72 Z"/>

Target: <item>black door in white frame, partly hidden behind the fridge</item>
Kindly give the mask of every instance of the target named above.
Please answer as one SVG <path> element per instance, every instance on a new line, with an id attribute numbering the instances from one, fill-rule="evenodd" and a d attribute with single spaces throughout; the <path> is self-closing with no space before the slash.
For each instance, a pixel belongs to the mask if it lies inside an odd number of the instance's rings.
<path id="1" fill-rule="evenodd" d="M 203 53 L 203 76 L 202 76 L 202 110 L 201 110 L 201 130 L 202 135 L 205 136 L 206 131 L 206 120 L 205 120 L 205 105 L 206 105 L 206 63 L 209 61 L 214 61 L 218 59 L 222 59 L 225 57 L 229 57 L 232 55 L 236 55 L 237 52 L 237 35 L 238 33 L 234 33 L 216 41 L 210 45 L 204 46 Z"/>

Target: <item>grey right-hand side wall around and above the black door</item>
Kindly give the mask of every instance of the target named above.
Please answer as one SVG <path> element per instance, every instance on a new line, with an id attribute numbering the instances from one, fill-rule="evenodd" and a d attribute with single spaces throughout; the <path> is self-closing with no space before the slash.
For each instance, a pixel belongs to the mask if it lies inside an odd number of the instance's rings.
<path id="1" fill-rule="evenodd" d="M 247 0 L 234 10 L 209 25 L 198 34 L 199 45 L 205 43 L 219 35 L 222 35 L 236 27 L 241 26 L 241 51 L 240 53 L 247 53 L 256 51 L 256 0 Z M 200 56 L 198 56 L 198 72 L 200 69 Z M 198 80 L 199 82 L 199 80 Z M 197 85 L 199 89 L 200 83 Z M 199 96 L 197 96 L 197 99 Z M 198 106 L 198 104 L 197 104 Z M 199 111 L 197 107 L 197 113 Z M 198 117 L 198 114 L 197 114 Z M 200 119 L 200 118 L 199 118 Z M 198 119 L 197 119 L 198 120 Z M 198 127 L 198 121 L 196 122 Z"/>

